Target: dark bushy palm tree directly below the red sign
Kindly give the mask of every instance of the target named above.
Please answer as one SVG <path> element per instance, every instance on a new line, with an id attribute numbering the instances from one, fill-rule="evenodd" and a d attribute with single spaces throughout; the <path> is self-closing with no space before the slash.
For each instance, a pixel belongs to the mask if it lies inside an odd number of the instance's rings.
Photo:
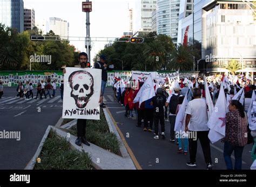
<path id="1" fill-rule="evenodd" d="M 169 69 L 191 70 L 193 67 L 191 48 L 179 44 L 171 53 L 171 62 L 168 65 Z"/>

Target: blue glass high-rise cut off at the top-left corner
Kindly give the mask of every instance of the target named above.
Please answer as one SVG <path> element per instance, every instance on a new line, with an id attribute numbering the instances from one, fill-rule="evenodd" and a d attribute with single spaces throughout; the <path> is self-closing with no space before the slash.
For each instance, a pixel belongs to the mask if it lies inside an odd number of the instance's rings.
<path id="1" fill-rule="evenodd" d="M 0 0 L 0 23 L 24 31 L 23 0 Z"/>

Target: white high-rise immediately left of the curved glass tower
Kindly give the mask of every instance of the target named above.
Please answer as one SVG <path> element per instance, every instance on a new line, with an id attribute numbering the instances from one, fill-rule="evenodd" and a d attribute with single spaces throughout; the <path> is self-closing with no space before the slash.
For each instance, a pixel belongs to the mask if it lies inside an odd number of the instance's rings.
<path id="1" fill-rule="evenodd" d="M 135 18 L 133 19 L 133 31 L 140 34 L 152 32 L 152 12 L 156 9 L 157 0 L 136 1 L 133 16 Z"/>

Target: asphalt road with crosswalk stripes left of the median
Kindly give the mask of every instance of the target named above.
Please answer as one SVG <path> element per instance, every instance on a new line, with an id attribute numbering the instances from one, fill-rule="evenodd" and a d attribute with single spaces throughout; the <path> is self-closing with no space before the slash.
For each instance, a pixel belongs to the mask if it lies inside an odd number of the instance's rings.
<path id="1" fill-rule="evenodd" d="M 33 92 L 35 95 L 36 90 Z M 5 87 L 0 99 L 0 131 L 21 132 L 20 141 L 0 139 L 0 169 L 24 169 L 35 154 L 48 125 L 54 126 L 62 115 L 59 90 L 55 98 L 42 100 L 25 100 L 15 98 L 16 95 L 16 88 Z"/>

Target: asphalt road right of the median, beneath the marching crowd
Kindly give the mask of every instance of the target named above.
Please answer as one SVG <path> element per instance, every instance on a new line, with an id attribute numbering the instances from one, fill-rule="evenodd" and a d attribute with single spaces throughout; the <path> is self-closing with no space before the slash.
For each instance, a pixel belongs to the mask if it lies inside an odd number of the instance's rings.
<path id="1" fill-rule="evenodd" d="M 136 118 L 128 119 L 124 116 L 125 107 L 117 102 L 113 102 L 112 88 L 106 89 L 104 98 L 114 120 L 118 123 L 118 127 L 124 134 L 129 147 L 132 149 L 132 152 L 143 169 L 206 169 L 200 142 L 198 142 L 197 150 L 197 168 L 186 166 L 186 162 L 189 161 L 189 154 L 178 154 L 178 146 L 169 141 L 169 122 L 165 122 L 166 139 L 155 140 L 153 139 L 153 132 L 143 132 L 142 127 L 136 127 Z M 129 138 L 126 137 L 127 133 L 130 135 Z M 226 169 L 223 148 L 224 144 L 221 142 L 216 142 L 214 145 L 211 145 L 213 169 Z M 251 167 L 251 150 L 252 145 L 245 146 L 242 155 L 242 169 L 250 169 Z M 157 161 L 159 161 L 159 163 L 157 163 Z M 232 161 L 234 164 L 234 157 Z"/>

